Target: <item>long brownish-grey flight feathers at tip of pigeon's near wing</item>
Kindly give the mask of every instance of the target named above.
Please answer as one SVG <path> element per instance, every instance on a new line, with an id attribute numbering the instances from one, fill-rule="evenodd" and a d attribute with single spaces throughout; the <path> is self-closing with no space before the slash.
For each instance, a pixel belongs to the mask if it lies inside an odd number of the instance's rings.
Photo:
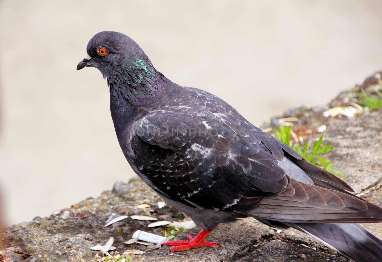
<path id="1" fill-rule="evenodd" d="M 247 212 L 279 222 L 381 222 L 382 208 L 348 193 L 306 184 L 291 178 L 282 193 L 266 196 Z"/>

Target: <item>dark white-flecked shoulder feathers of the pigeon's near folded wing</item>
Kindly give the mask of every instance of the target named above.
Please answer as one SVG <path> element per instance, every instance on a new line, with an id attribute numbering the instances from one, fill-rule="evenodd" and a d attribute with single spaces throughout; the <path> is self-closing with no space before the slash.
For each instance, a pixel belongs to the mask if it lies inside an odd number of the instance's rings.
<path id="1" fill-rule="evenodd" d="M 259 139 L 249 144 L 215 115 L 185 111 L 146 115 L 131 140 L 134 166 L 160 195 L 227 209 L 242 199 L 254 206 L 288 187 L 290 179 Z"/>

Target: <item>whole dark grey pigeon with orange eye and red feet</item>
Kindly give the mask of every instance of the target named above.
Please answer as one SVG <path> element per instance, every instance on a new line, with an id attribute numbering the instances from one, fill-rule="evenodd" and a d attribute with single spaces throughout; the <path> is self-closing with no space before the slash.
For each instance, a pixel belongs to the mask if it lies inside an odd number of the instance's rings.
<path id="1" fill-rule="evenodd" d="M 125 34 L 99 32 L 86 52 L 77 70 L 95 67 L 107 80 L 131 168 L 201 229 L 195 238 L 165 242 L 171 252 L 217 248 L 204 239 L 219 223 L 254 217 L 296 228 L 354 261 L 382 261 L 382 241 L 354 224 L 382 222 L 382 208 L 353 195 L 340 178 L 219 97 L 170 81 Z"/>

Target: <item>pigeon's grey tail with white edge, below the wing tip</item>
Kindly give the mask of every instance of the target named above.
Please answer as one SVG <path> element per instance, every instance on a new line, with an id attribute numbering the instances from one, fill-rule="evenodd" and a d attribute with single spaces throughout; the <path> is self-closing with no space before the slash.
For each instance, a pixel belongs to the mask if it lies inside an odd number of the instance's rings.
<path id="1" fill-rule="evenodd" d="M 356 262 L 382 262 L 382 240 L 357 224 L 284 223 Z"/>

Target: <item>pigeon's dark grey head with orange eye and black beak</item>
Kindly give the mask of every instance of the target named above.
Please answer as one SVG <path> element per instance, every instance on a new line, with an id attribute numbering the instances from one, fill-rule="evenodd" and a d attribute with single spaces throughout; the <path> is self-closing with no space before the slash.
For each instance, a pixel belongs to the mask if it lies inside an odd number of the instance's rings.
<path id="1" fill-rule="evenodd" d="M 103 31 L 95 34 L 87 44 L 87 56 L 77 65 L 77 70 L 86 66 L 99 69 L 108 77 L 121 72 L 121 69 L 131 70 L 134 67 L 152 69 L 152 64 L 139 45 L 125 34 Z"/>

